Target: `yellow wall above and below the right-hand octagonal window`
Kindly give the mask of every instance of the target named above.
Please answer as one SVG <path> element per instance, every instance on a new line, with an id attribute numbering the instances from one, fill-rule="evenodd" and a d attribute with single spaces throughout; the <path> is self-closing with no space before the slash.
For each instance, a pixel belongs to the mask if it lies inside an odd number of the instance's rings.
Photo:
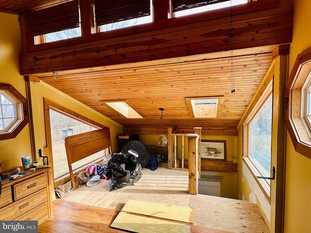
<path id="1" fill-rule="evenodd" d="M 293 43 L 289 69 L 296 56 L 311 47 L 311 1 L 294 0 Z M 284 233 L 311 232 L 311 160 L 294 150 L 287 134 Z"/>

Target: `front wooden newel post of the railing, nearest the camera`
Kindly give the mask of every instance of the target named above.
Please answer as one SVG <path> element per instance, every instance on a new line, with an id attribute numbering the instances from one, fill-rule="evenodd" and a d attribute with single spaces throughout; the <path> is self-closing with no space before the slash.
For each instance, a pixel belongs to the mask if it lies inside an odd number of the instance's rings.
<path id="1" fill-rule="evenodd" d="M 196 195 L 198 190 L 198 142 L 199 135 L 189 133 L 188 152 L 189 152 L 189 193 Z"/>

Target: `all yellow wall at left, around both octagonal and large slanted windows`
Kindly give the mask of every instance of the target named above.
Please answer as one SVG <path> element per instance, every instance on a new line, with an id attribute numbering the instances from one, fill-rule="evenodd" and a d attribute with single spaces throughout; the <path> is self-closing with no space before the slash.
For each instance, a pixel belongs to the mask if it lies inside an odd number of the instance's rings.
<path id="1" fill-rule="evenodd" d="M 12 84 L 26 98 L 26 84 L 24 77 L 19 75 L 18 56 L 21 51 L 20 28 L 17 15 L 0 13 L 0 83 Z M 5 23 L 2 23 L 5 22 Z M 50 85 L 30 83 L 33 122 L 35 133 L 35 151 L 37 160 L 38 150 L 45 148 L 45 123 L 43 111 L 43 98 L 47 98 L 64 107 L 86 116 L 110 128 L 113 152 L 118 150 L 118 135 L 122 133 L 122 126 L 111 119 L 99 114 L 81 102 L 70 98 Z M 17 135 L 16 138 L 0 141 L 0 171 L 21 166 L 20 156 L 31 154 L 29 124 Z"/>

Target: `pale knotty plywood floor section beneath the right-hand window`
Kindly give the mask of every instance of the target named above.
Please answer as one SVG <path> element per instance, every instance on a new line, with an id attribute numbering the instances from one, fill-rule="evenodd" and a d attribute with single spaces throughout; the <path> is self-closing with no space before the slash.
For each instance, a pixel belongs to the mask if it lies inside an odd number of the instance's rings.
<path id="1" fill-rule="evenodd" d="M 195 209 L 194 225 L 236 233 L 269 233 L 258 206 L 254 203 L 192 195 L 190 206 Z"/>

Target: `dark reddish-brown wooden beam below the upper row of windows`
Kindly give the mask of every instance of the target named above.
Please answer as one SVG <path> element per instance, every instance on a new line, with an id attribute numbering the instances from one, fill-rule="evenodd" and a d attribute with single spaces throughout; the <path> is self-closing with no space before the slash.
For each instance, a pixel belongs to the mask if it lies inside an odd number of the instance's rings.
<path id="1" fill-rule="evenodd" d="M 223 20 L 223 19 L 222 19 Z M 201 28 L 168 33 L 167 29 L 144 33 L 145 37 L 124 36 L 123 42 L 101 45 L 80 45 L 83 48 L 66 50 L 46 50 L 44 54 L 29 53 L 20 57 L 21 75 L 54 72 L 88 67 L 110 66 L 124 63 L 143 62 L 164 58 L 189 56 L 210 52 L 244 49 L 265 45 L 289 44 L 292 41 L 293 15 L 271 16 L 235 22 L 232 47 L 229 44 L 229 24 L 206 26 L 208 21 L 200 22 Z M 189 27 L 191 24 L 189 25 Z M 176 31 L 171 29 L 171 31 Z M 133 38 L 139 39 L 133 39 Z M 111 40 L 111 39 L 109 39 Z"/>

